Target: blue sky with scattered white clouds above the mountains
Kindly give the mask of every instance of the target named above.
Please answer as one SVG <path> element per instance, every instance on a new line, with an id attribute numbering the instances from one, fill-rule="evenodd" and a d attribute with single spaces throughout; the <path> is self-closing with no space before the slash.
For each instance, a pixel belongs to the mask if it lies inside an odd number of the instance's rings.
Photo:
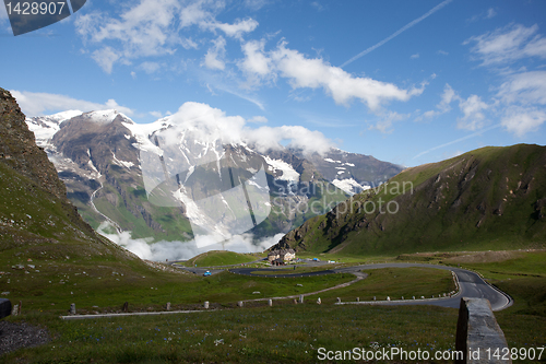
<path id="1" fill-rule="evenodd" d="M 88 0 L 14 37 L 2 8 L 0 86 L 28 116 L 193 102 L 415 166 L 545 143 L 545 20 L 544 1 Z"/>

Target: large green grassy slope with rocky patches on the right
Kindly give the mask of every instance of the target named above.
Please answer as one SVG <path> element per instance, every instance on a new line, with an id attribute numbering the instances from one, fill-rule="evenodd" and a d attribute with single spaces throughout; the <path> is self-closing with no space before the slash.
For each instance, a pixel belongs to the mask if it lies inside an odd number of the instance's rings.
<path id="1" fill-rule="evenodd" d="M 273 248 L 313 253 L 514 249 L 546 243 L 546 148 L 483 148 L 408 168 Z"/>

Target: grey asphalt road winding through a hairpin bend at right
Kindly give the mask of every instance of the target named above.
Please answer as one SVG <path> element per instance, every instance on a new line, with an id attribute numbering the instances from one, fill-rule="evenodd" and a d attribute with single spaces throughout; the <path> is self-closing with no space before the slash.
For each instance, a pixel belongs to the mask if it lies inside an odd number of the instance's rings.
<path id="1" fill-rule="evenodd" d="M 407 267 L 423 267 L 423 268 L 436 268 L 450 270 L 456 274 L 459 280 L 459 293 L 451 297 L 446 298 L 429 298 L 429 300 L 405 300 L 405 301 L 376 301 L 372 304 L 380 305 L 435 305 L 441 307 L 452 307 L 459 308 L 461 303 L 461 297 L 470 298 L 487 298 L 491 304 L 492 310 L 501 310 L 512 305 L 512 300 L 506 293 L 492 287 L 487 284 L 478 274 L 471 272 L 461 268 L 436 266 L 436 265 L 420 265 L 420 263 L 379 263 L 379 265 L 364 265 L 364 266 L 353 266 L 339 269 L 329 269 L 317 272 L 307 273 L 280 273 L 280 274 L 259 274 L 252 273 L 256 271 L 278 271 L 273 269 L 257 269 L 257 268 L 237 268 L 229 269 L 230 272 L 244 275 L 253 277 L 276 277 L 276 278 L 289 278 L 289 277 L 317 277 L 324 274 L 334 273 L 354 273 L 363 269 L 380 269 L 380 268 L 407 268 Z M 284 269 L 283 269 L 284 271 Z M 288 270 L 286 270 L 288 271 Z M 290 270 L 292 271 L 292 270 Z M 369 302 L 353 302 L 352 304 L 370 304 Z"/>

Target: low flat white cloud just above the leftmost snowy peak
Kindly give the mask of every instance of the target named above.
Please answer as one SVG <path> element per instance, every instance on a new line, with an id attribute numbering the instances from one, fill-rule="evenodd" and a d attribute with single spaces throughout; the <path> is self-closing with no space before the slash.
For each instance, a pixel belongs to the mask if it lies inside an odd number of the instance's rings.
<path id="1" fill-rule="evenodd" d="M 11 90 L 11 94 L 17 101 L 19 106 L 26 116 L 50 115 L 66 110 L 82 110 L 95 111 L 105 109 L 117 109 L 126 115 L 132 115 L 134 111 L 121 105 L 118 105 L 115 99 L 108 99 L 104 104 L 76 99 L 66 95 L 35 93 L 26 91 Z"/>

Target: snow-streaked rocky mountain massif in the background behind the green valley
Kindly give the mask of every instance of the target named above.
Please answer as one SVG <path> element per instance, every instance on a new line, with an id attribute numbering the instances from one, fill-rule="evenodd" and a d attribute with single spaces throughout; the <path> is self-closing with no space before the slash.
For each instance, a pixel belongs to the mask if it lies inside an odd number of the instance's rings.
<path id="1" fill-rule="evenodd" d="M 139 125 L 116 110 L 71 110 L 26 122 L 92 226 L 156 240 L 286 233 L 401 171 L 340 150 L 263 150 L 173 117 Z"/>

